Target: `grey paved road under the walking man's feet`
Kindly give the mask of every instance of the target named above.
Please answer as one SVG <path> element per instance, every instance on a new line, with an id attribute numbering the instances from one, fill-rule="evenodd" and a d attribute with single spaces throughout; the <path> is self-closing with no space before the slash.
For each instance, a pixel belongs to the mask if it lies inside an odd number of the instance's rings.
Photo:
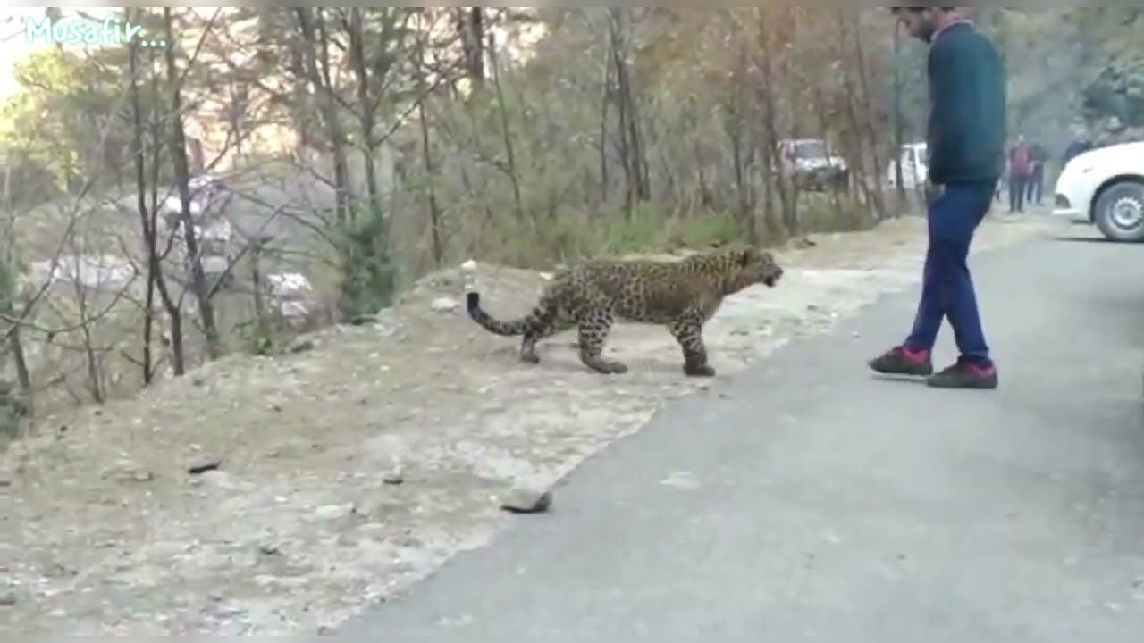
<path id="1" fill-rule="evenodd" d="M 868 375 L 915 294 L 885 299 L 665 410 L 553 514 L 339 634 L 1144 641 L 1144 247 L 1038 240 L 976 265 L 1000 390 Z"/>

